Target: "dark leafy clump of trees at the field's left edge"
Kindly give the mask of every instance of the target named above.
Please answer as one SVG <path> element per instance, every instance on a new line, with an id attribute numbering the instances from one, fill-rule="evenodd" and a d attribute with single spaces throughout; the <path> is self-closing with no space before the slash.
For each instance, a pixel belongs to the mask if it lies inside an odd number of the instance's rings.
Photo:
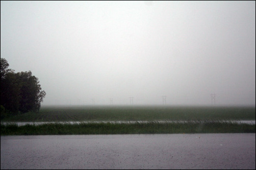
<path id="1" fill-rule="evenodd" d="M 38 78 L 29 72 L 14 73 L 9 64 L 1 58 L 1 112 L 36 112 L 41 107 L 45 91 L 41 90 Z M 2 113 L 1 113 L 2 115 Z"/>

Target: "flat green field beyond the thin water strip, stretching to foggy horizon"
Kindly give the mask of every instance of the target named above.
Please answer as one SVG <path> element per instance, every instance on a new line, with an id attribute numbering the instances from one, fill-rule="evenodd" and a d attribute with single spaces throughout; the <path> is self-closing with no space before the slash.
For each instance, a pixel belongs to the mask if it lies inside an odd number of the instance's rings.
<path id="1" fill-rule="evenodd" d="M 255 107 L 42 107 L 1 121 L 255 120 Z"/>

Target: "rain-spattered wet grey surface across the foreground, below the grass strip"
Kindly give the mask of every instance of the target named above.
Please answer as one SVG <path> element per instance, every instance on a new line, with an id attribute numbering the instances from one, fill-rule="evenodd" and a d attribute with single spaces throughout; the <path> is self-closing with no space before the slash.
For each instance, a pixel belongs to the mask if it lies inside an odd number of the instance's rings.
<path id="1" fill-rule="evenodd" d="M 1 136 L 1 169 L 255 169 L 255 133 Z"/>

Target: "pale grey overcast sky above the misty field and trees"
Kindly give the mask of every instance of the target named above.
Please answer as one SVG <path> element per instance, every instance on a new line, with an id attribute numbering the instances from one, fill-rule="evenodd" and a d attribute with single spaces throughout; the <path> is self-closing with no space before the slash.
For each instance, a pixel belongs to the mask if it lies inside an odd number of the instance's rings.
<path id="1" fill-rule="evenodd" d="M 1 1 L 1 58 L 42 106 L 255 106 L 255 1 Z"/>

